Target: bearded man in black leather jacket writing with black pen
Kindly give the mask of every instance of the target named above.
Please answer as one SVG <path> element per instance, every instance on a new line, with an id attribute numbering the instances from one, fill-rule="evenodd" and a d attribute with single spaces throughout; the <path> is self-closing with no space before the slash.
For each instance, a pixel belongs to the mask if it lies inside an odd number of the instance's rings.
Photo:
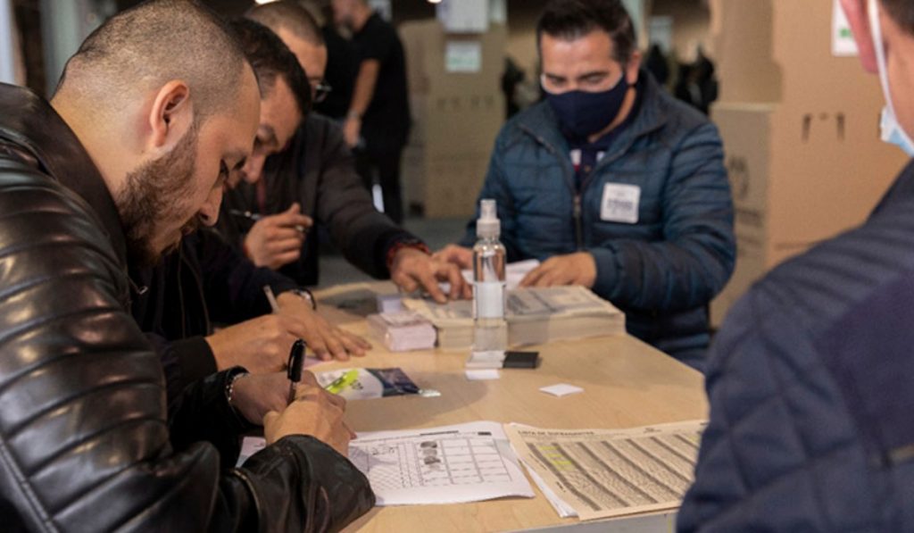
<path id="1" fill-rule="evenodd" d="M 342 411 L 317 388 L 260 419 L 240 397 L 253 378 L 232 369 L 166 418 L 161 364 L 128 313 L 125 265 L 215 222 L 258 101 L 225 28 L 178 0 L 90 36 L 53 108 L 0 85 L 4 530 L 336 530 L 373 504 L 365 477 L 306 434 L 345 450 Z M 260 420 L 271 445 L 220 472 L 200 441 Z"/>

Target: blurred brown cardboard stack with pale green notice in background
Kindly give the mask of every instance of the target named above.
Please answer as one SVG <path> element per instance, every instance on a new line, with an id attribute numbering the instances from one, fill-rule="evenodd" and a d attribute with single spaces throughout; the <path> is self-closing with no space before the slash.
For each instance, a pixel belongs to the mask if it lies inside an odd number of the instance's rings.
<path id="1" fill-rule="evenodd" d="M 404 199 L 429 218 L 469 218 L 505 122 L 505 27 L 449 34 L 432 19 L 399 31 L 413 115 L 403 157 Z"/>

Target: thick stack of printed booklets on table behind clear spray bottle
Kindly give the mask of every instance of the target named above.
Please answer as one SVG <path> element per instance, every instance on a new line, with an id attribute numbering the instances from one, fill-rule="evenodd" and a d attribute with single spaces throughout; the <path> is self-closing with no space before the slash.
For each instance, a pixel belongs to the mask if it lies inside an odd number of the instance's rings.
<path id="1" fill-rule="evenodd" d="M 435 326 L 441 349 L 463 350 L 473 344 L 472 301 L 436 304 L 430 298 L 407 298 L 403 305 Z M 625 333 L 622 311 L 575 285 L 509 290 L 506 314 L 511 346 Z"/>

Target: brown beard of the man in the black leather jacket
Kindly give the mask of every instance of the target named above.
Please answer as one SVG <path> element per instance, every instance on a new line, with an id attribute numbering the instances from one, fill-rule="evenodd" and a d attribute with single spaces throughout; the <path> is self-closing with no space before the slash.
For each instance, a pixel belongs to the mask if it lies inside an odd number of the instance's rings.
<path id="1" fill-rule="evenodd" d="M 126 177 L 124 187 L 114 198 L 127 242 L 127 259 L 137 266 L 152 266 L 159 258 L 173 251 L 180 239 L 156 244 L 162 223 L 168 224 L 184 216 L 187 198 L 193 192 L 194 171 L 197 166 L 197 122 L 175 144 L 171 153 L 144 163 Z M 181 235 L 199 226 L 196 212 L 181 229 Z"/>

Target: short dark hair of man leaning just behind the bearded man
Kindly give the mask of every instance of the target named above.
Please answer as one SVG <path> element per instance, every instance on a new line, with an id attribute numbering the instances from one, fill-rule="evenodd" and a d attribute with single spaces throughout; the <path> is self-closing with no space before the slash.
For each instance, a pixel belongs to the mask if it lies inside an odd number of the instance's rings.
<path id="1" fill-rule="evenodd" d="M 250 66 L 254 68 L 261 97 L 270 94 L 276 79 L 282 78 L 295 96 L 302 116 L 308 114 L 311 111 L 311 85 L 292 50 L 269 27 L 250 18 L 237 18 L 231 21 L 231 27 Z"/>

